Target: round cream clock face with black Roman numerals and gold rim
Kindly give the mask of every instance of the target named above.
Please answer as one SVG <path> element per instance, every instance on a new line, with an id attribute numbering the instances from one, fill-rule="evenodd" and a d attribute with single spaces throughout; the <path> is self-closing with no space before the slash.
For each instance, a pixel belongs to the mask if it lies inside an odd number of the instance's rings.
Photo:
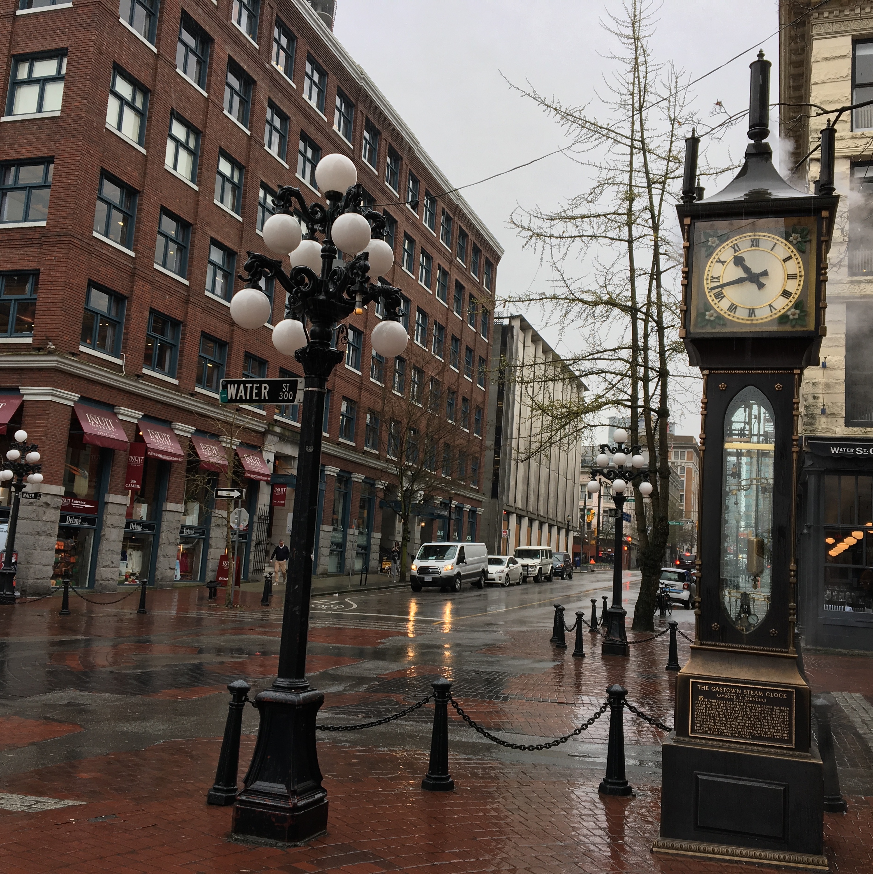
<path id="1" fill-rule="evenodd" d="M 712 309 L 731 322 L 761 323 L 789 312 L 803 288 L 801 254 L 773 233 L 746 232 L 727 240 L 703 277 Z"/>

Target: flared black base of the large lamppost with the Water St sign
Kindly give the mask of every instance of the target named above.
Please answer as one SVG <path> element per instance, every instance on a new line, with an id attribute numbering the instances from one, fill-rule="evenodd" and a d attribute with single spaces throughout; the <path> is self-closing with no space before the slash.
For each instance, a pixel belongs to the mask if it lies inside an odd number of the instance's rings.
<path id="1" fill-rule="evenodd" d="M 323 703 L 315 689 L 273 687 L 255 698 L 258 743 L 234 804 L 234 837 L 296 846 L 327 831 L 327 791 L 315 746 L 315 717 Z"/>

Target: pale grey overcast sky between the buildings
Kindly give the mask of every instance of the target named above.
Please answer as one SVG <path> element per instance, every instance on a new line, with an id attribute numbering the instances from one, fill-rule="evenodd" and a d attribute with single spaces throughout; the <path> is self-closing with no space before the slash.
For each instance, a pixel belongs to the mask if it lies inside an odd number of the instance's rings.
<path id="1" fill-rule="evenodd" d="M 604 55 L 612 38 L 599 24 L 607 7 L 592 0 L 338 0 L 337 7 L 336 36 L 453 185 L 476 182 L 567 144 L 553 121 L 506 80 L 524 85 L 527 79 L 540 93 L 581 104 L 595 100 L 595 89 L 602 92 L 611 63 Z M 773 62 L 771 101 L 778 100 L 779 44 L 771 36 L 779 26 L 776 0 L 663 0 L 653 8 L 656 60 L 672 61 L 686 80 L 749 50 L 692 88 L 704 117 L 716 101 L 731 112 L 747 106 L 748 66 L 759 46 Z M 771 123 L 775 133 L 775 113 Z M 746 128 L 740 126 L 718 149 L 741 156 L 746 142 Z M 553 208 L 583 184 L 581 169 L 556 155 L 462 192 L 505 249 L 498 296 L 538 283 L 548 288 L 550 271 L 522 251 L 521 240 L 506 225 L 515 206 Z M 578 332 L 559 341 L 538 312 L 526 316 L 559 351 L 581 343 Z M 672 418 L 679 433 L 698 434 L 696 411 L 684 416 L 676 411 Z"/>

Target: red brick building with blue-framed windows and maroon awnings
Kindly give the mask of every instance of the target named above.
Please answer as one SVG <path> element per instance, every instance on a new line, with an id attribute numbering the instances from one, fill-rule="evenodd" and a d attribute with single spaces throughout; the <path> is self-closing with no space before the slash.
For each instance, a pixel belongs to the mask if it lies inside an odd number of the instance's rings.
<path id="1" fill-rule="evenodd" d="M 319 199 L 314 165 L 336 151 L 389 216 L 386 279 L 414 342 L 383 362 L 375 308 L 349 320 L 328 385 L 318 569 L 373 568 L 395 537 L 379 411 L 386 396 L 421 403 L 425 386 L 455 427 L 422 512 L 434 536 L 476 537 L 502 250 L 333 37 L 333 4 L 317 6 L 17 0 L 0 14 L 0 444 L 26 428 L 45 475 L 22 503 L 23 589 L 62 572 L 98 589 L 211 579 L 226 508 L 209 496 L 229 464 L 248 486 L 243 574 L 258 574 L 289 527 L 299 409 L 234 415 L 218 381 L 300 371 L 272 325 L 235 327 L 229 301 L 244 253 L 265 251 L 271 193 Z M 271 322 L 283 316 L 277 295 Z"/>

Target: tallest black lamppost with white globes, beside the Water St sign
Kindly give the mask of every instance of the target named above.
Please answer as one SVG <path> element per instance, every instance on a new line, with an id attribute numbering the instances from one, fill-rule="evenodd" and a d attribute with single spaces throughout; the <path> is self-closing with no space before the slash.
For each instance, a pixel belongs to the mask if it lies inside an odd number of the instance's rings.
<path id="1" fill-rule="evenodd" d="M 288 293 L 288 304 L 287 318 L 273 329 L 273 344 L 293 355 L 305 375 L 278 676 L 255 698 L 260 713 L 258 743 L 244 788 L 237 795 L 232 825 L 237 836 L 282 843 L 305 843 L 327 829 L 327 792 L 321 786 L 315 745 L 315 717 L 324 695 L 306 681 L 306 639 L 325 392 L 327 378 L 345 354 L 333 347 L 333 334 L 344 333 L 340 323 L 353 311 L 360 314 L 368 303 L 381 301 L 382 322 L 372 335 L 374 350 L 392 357 L 409 341 L 398 321 L 400 290 L 382 279 L 373 284 L 368 276 L 370 271 L 387 272 L 394 253 L 381 239 L 385 219 L 363 205 L 354 163 L 345 156 L 327 155 L 315 170 L 315 180 L 325 192 L 327 208 L 306 205 L 298 188 L 282 186 L 273 198 L 278 212 L 264 224 L 267 246 L 277 253 L 291 253 L 291 271 L 286 274 L 280 260 L 250 252 L 244 267 L 248 283 L 230 302 L 230 314 L 238 325 L 259 328 L 272 311 L 260 282 L 275 278 Z M 294 204 L 306 225 L 302 241 L 300 222 L 292 215 Z M 323 236 L 321 242 L 317 234 Z M 358 254 L 344 261 L 338 249 Z"/>

